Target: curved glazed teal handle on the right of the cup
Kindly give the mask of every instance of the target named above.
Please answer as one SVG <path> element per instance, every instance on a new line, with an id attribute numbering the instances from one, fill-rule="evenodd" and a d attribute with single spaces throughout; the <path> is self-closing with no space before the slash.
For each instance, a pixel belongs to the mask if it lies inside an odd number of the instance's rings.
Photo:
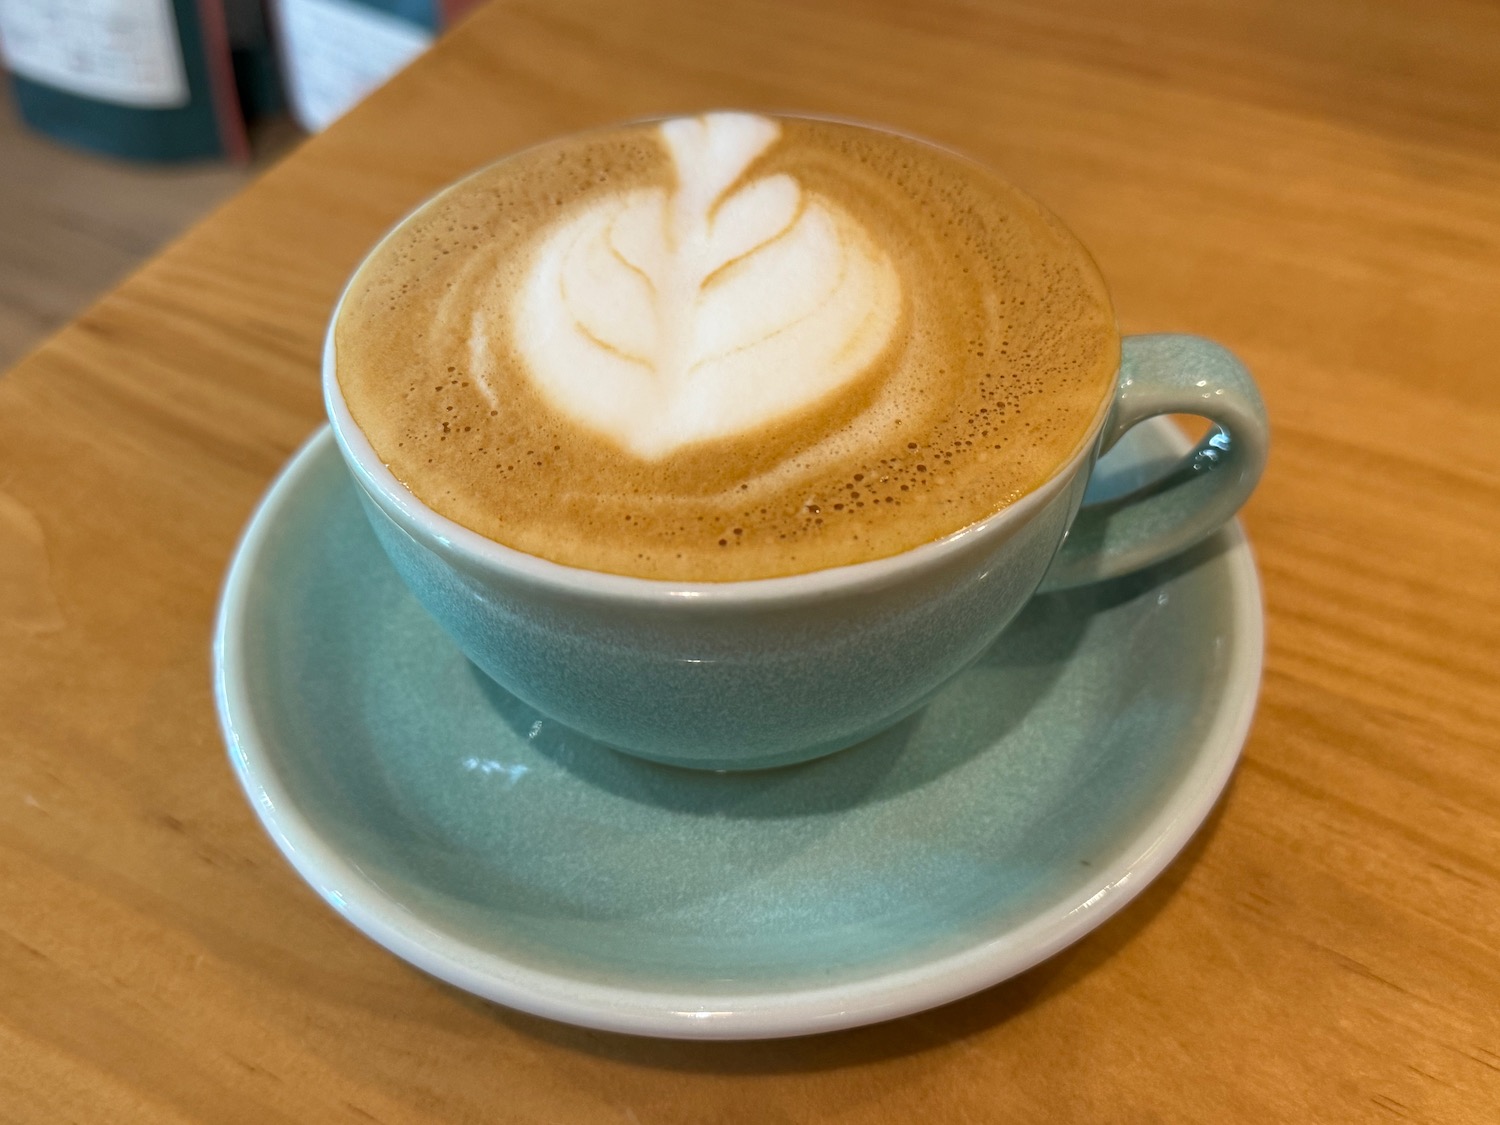
<path id="1" fill-rule="evenodd" d="M 1254 380 L 1202 336 L 1126 336 L 1100 456 L 1158 414 L 1198 414 L 1215 429 L 1160 482 L 1078 510 L 1042 590 L 1140 570 L 1206 538 L 1245 502 L 1266 466 L 1270 428 Z"/>

